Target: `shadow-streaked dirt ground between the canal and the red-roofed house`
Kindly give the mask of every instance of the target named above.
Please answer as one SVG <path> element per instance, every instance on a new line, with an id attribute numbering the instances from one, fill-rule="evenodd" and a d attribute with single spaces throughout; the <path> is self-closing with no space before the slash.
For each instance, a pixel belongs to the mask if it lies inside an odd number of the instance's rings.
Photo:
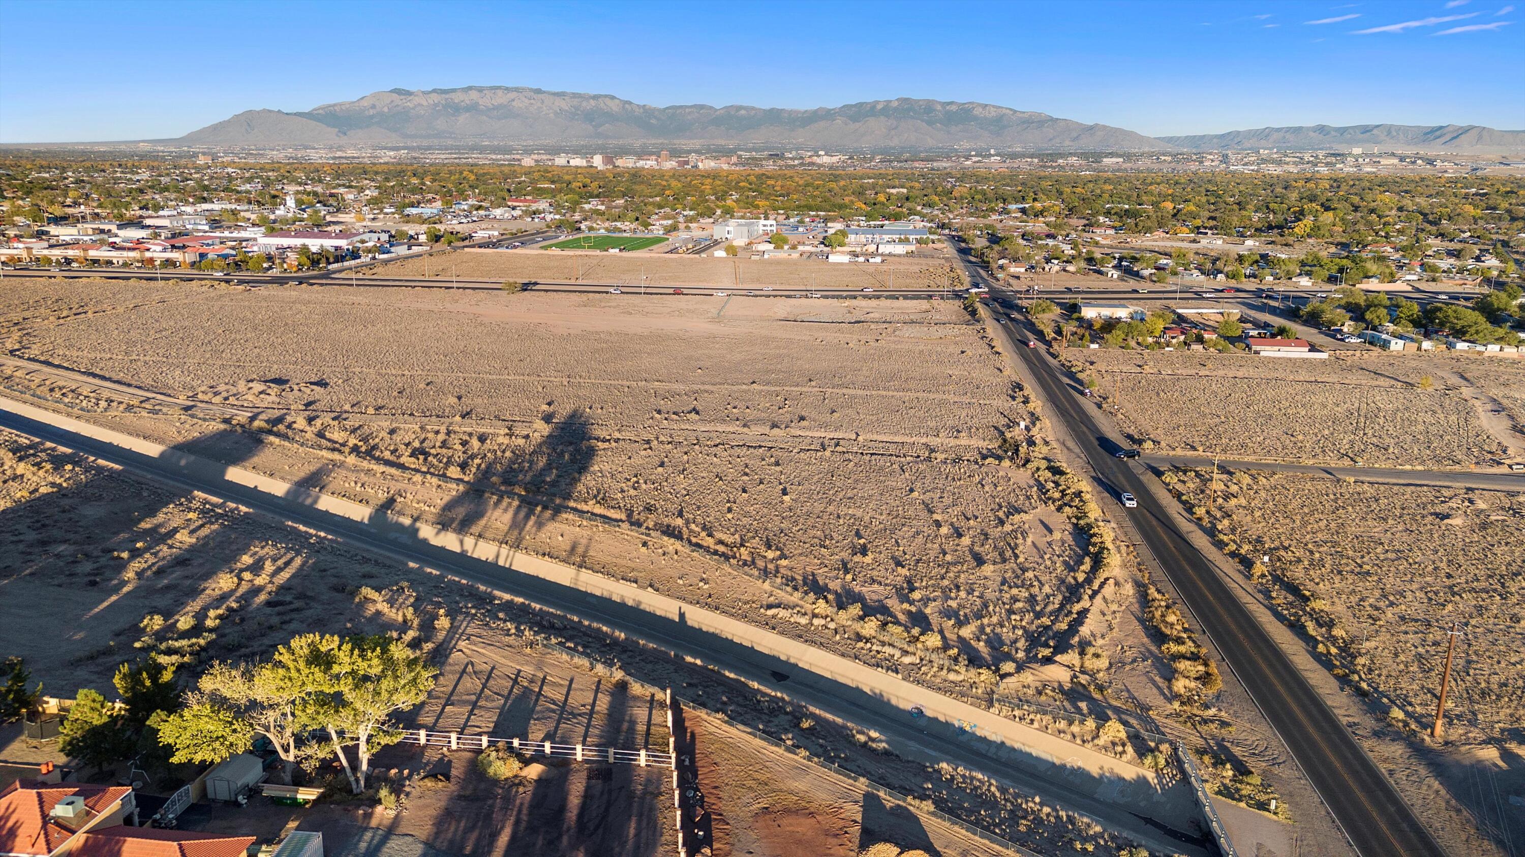
<path id="1" fill-rule="evenodd" d="M 307 630 L 390 631 L 424 645 L 442 668 L 430 698 L 406 720 L 410 726 L 662 747 L 662 711 L 650 689 L 624 680 L 628 671 L 1026 846 L 1078 842 L 1110 854 L 1124 845 L 1039 799 L 959 769 L 901 759 L 872 733 L 816 723 L 810 712 L 702 666 L 17 435 L 0 433 L 0 647 L 23 656 L 52 691 L 110 691 L 116 663 L 145 651 L 177 660 L 189 679 L 210 659 L 268 654 Z M 145 624 L 149 616 L 162 621 Z M 599 663 L 589 668 L 546 644 Z M 869 839 L 930 843 L 944 854 L 1000 852 L 703 714 L 689 726 L 700 735 L 706 772 L 714 772 L 711 793 L 723 822 L 715 854 L 851 852 Z M 393 852 L 386 846 L 392 837 L 400 848 L 424 843 L 447 854 L 499 851 L 509 839 L 558 854 L 671 852 L 671 798 L 660 770 L 531 764 L 520 779 L 497 784 L 476 772 L 471 753 L 430 753 L 393 746 L 378 756 L 381 778 L 404 791 L 401 814 L 369 799 L 311 810 L 256 802 L 236 813 L 197 808 L 185 827 L 268 837 L 296 819 L 329 834 L 334 851 L 360 842 L 366 854 Z M 433 773 L 448 776 L 421 779 Z"/>

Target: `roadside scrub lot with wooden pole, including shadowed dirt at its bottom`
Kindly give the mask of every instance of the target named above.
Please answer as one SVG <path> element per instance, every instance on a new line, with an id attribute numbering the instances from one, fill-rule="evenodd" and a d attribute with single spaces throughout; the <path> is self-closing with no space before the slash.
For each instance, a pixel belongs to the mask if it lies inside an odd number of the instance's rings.
<path id="1" fill-rule="evenodd" d="M 1164 480 L 1350 694 L 1333 705 L 1447 846 L 1511 854 L 1525 833 L 1511 798 L 1525 790 L 1525 494 L 1237 470 L 1218 473 L 1208 511 L 1211 468 Z"/>

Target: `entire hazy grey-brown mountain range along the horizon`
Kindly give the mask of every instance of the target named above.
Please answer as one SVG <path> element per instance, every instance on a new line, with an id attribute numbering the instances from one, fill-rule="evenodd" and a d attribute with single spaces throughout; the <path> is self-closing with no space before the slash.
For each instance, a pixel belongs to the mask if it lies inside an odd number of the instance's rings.
<path id="1" fill-rule="evenodd" d="M 651 107 L 610 95 L 528 87 L 393 88 L 300 113 L 249 110 L 180 137 L 186 145 L 671 142 L 802 146 L 1000 146 L 1039 151 L 1331 149 L 1510 154 L 1525 131 L 1479 125 L 1258 128 L 1147 137 L 1115 128 L 979 102 L 897 98 L 785 110 L 685 104 Z"/>

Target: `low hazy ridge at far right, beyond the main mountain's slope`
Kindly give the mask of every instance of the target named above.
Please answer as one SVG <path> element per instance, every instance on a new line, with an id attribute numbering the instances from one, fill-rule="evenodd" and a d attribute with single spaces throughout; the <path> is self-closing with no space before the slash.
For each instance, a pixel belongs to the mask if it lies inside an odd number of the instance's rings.
<path id="1" fill-rule="evenodd" d="M 1525 152 L 1525 131 L 1499 131 L 1482 125 L 1299 125 L 1159 139 L 1193 151 L 1331 151 L 1360 146 L 1365 151 Z"/>

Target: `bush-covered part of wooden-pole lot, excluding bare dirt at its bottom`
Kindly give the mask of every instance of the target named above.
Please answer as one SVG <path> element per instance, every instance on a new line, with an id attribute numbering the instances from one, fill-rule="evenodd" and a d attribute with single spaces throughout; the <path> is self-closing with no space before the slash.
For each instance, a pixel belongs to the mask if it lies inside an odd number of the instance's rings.
<path id="1" fill-rule="evenodd" d="M 1525 740 L 1525 494 L 1232 471 L 1209 514 L 1209 471 L 1165 480 L 1395 729 L 1427 732 L 1455 621 L 1447 737 Z"/>

